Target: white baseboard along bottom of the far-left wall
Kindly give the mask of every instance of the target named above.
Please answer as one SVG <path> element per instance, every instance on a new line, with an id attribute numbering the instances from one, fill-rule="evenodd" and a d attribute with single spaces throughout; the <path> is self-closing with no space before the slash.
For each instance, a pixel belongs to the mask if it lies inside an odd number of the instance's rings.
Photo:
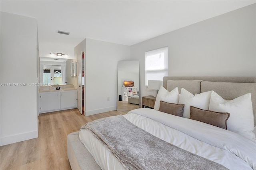
<path id="1" fill-rule="evenodd" d="M 0 138 L 0 146 L 22 142 L 24 140 L 30 140 L 34 138 L 38 138 L 38 130 Z"/>

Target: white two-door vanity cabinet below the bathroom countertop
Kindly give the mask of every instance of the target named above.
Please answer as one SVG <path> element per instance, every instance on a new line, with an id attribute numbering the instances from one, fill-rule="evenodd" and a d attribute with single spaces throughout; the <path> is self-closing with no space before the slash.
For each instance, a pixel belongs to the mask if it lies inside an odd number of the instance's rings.
<path id="1" fill-rule="evenodd" d="M 76 100 L 76 90 L 54 90 L 52 92 L 39 92 L 39 113 L 77 108 Z"/>

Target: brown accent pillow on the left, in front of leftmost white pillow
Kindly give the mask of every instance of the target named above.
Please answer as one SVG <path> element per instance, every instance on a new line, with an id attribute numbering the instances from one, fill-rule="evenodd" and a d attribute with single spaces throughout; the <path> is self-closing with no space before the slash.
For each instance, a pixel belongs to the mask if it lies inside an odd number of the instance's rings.
<path id="1" fill-rule="evenodd" d="M 160 107 L 158 111 L 182 117 L 183 109 L 184 109 L 184 104 L 175 104 L 175 103 L 167 103 L 164 101 L 160 101 Z"/>

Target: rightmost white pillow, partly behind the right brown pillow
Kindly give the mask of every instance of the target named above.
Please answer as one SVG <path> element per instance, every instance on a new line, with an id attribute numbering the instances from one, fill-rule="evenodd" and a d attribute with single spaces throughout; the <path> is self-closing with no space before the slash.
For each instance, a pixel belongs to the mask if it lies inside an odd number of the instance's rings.
<path id="1" fill-rule="evenodd" d="M 254 118 L 251 94 L 245 94 L 233 100 L 224 100 L 216 92 L 212 92 L 209 110 L 229 112 L 227 130 L 238 133 L 246 138 L 255 139 Z"/>

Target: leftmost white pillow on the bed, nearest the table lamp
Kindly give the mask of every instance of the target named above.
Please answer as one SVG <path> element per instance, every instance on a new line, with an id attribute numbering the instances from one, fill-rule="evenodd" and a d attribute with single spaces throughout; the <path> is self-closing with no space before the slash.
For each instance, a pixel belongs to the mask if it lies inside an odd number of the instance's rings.
<path id="1" fill-rule="evenodd" d="M 161 100 L 168 103 L 178 104 L 178 101 L 179 101 L 178 87 L 174 88 L 172 91 L 169 92 L 163 86 L 161 86 L 156 96 L 154 110 L 159 110 Z"/>

